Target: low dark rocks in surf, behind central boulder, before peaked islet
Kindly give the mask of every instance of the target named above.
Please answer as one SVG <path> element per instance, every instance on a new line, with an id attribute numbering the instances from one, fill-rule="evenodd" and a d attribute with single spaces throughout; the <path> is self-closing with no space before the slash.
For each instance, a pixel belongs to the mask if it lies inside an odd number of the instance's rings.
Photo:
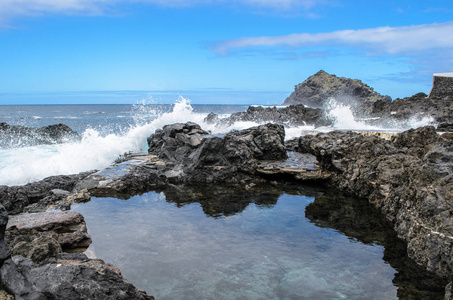
<path id="1" fill-rule="evenodd" d="M 209 114 L 206 119 L 208 123 L 230 126 L 235 122 L 272 122 L 284 126 L 313 125 L 328 126 L 331 120 L 326 117 L 324 110 L 309 108 L 302 104 L 290 105 L 283 108 L 250 106 L 245 112 L 237 112 L 227 118 L 219 118 L 216 114 Z"/>

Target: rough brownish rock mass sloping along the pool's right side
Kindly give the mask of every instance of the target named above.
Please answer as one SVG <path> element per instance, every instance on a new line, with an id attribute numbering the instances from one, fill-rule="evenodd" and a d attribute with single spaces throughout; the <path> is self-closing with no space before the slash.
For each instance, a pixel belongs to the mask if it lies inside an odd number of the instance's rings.
<path id="1" fill-rule="evenodd" d="M 453 134 L 433 127 L 386 141 L 334 131 L 301 137 L 336 187 L 366 197 L 408 243 L 409 256 L 449 278 L 453 271 Z"/>

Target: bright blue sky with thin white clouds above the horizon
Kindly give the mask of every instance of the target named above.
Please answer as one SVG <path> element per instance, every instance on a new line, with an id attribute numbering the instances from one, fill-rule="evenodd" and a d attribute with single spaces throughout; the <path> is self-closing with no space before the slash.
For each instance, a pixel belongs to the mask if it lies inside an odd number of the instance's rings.
<path id="1" fill-rule="evenodd" d="M 452 33 L 451 0 L 0 0 L 0 104 L 90 91 L 289 95 L 319 70 L 402 98 L 453 71 Z"/>

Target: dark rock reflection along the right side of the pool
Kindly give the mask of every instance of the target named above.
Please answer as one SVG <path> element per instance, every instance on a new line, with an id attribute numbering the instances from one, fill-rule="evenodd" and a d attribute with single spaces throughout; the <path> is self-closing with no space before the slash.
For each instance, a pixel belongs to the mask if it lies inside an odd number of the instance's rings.
<path id="1" fill-rule="evenodd" d="M 384 246 L 383 260 L 396 271 L 393 283 L 399 299 L 442 299 L 446 282 L 424 271 L 406 254 L 407 245 L 377 209 L 348 197 L 318 196 L 305 211 L 310 221 L 333 228 L 350 239 Z"/>

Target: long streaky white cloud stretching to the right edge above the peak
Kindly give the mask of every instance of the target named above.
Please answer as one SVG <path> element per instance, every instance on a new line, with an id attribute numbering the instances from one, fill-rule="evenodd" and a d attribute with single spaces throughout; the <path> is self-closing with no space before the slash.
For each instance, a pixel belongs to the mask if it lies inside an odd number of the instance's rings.
<path id="1" fill-rule="evenodd" d="M 283 36 L 244 37 L 220 41 L 212 50 L 220 55 L 251 47 L 309 48 L 346 46 L 369 54 L 411 54 L 429 49 L 453 50 L 453 22 L 404 27 L 378 27 L 328 33 L 297 33 Z"/>

